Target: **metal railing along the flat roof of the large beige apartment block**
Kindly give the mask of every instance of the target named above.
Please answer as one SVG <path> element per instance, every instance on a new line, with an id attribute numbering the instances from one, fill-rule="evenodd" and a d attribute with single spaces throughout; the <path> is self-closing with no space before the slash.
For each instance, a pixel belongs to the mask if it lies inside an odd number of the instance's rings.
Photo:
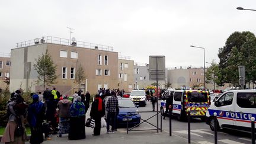
<path id="1" fill-rule="evenodd" d="M 27 41 L 23 41 L 21 43 L 17 43 L 17 48 L 18 47 L 34 46 L 36 44 L 41 44 L 41 43 L 63 44 L 66 46 L 84 47 L 84 48 L 89 48 L 89 49 L 99 49 L 99 50 L 113 52 L 112 46 L 105 46 L 103 44 L 96 44 L 96 43 L 88 43 L 88 42 L 84 42 L 84 41 L 76 41 L 76 40 L 72 41 L 69 39 L 63 39 L 63 38 L 52 37 L 52 36 L 46 36 L 46 37 L 41 37 L 40 39 L 37 38 L 37 39 L 27 40 Z"/>

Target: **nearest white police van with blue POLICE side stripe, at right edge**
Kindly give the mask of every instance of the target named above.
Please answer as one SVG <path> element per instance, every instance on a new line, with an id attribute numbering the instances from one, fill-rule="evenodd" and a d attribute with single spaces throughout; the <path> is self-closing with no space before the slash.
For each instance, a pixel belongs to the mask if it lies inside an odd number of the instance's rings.
<path id="1" fill-rule="evenodd" d="M 217 129 L 236 129 L 251 132 L 251 117 L 256 117 L 256 90 L 226 91 L 210 105 L 206 123 L 214 128 L 213 114 L 217 113 Z"/>

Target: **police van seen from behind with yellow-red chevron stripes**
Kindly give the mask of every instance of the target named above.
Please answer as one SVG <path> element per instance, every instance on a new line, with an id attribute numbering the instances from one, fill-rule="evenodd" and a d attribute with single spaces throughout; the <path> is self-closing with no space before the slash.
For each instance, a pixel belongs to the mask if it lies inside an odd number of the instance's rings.
<path id="1" fill-rule="evenodd" d="M 177 116 L 178 120 L 183 120 L 187 118 L 187 110 L 190 110 L 192 117 L 199 117 L 204 121 L 209 105 L 210 96 L 208 91 L 177 90 L 174 91 L 172 115 Z M 163 106 L 164 104 L 161 103 L 161 111 L 164 110 Z"/>

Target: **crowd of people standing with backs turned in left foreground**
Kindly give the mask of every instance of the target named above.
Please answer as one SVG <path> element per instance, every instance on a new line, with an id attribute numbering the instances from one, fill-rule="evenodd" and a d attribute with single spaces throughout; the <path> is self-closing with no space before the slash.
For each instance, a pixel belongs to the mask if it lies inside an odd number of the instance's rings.
<path id="1" fill-rule="evenodd" d="M 107 133 L 114 133 L 117 129 L 116 119 L 119 113 L 117 95 L 119 94 L 117 89 L 112 91 L 102 89 L 99 94 L 95 95 L 89 113 L 91 119 L 95 120 L 94 136 L 100 135 L 101 119 L 105 116 L 105 108 L 108 112 Z M 30 126 L 30 143 L 33 144 L 42 143 L 46 139 L 50 140 L 52 135 L 62 137 L 63 134 L 68 134 L 68 139 L 71 140 L 85 139 L 85 114 L 90 106 L 91 98 L 88 91 L 85 94 L 82 90 L 75 92 L 72 100 L 67 95 L 61 95 L 56 88 L 52 90 L 46 88 L 43 94 L 38 92 L 30 96 L 33 102 L 28 105 L 20 90 L 11 94 L 7 102 L 8 123 L 1 142 L 25 143 L 26 124 Z M 106 96 L 111 97 L 105 105 L 103 98 Z"/>

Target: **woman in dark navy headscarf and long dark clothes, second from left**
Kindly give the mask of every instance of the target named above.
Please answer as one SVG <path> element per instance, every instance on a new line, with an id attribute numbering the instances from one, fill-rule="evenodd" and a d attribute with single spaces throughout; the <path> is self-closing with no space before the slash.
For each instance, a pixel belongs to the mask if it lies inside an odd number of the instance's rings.
<path id="1" fill-rule="evenodd" d="M 42 123 L 44 120 L 45 108 L 43 102 L 39 101 L 39 95 L 33 95 L 33 103 L 28 107 L 28 123 L 30 124 L 30 143 L 43 142 Z"/>

